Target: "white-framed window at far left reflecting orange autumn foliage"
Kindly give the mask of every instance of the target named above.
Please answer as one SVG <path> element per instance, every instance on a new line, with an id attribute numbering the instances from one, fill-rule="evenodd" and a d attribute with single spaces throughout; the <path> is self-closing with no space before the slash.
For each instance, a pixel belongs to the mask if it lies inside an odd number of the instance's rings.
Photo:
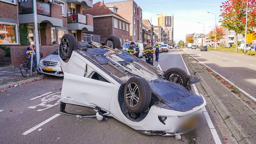
<path id="1" fill-rule="evenodd" d="M 0 22 L 0 44 L 18 44 L 17 24 Z"/>

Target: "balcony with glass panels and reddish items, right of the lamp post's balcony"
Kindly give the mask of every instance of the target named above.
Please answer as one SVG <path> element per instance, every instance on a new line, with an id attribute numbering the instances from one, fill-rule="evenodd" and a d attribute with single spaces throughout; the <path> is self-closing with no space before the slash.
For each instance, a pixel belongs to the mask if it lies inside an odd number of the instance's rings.
<path id="1" fill-rule="evenodd" d="M 68 30 L 82 30 L 83 32 L 93 31 L 93 16 L 80 13 L 67 14 Z M 91 21 L 88 21 L 90 19 Z M 88 24 L 90 23 L 90 24 Z"/>

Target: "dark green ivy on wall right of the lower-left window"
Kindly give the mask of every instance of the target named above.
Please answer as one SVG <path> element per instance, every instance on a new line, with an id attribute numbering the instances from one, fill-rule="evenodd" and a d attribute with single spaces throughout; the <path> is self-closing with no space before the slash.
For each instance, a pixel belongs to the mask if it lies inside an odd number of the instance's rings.
<path id="1" fill-rule="evenodd" d="M 20 32 L 20 45 L 27 46 L 29 45 L 28 40 L 28 24 L 20 24 L 19 25 Z"/>

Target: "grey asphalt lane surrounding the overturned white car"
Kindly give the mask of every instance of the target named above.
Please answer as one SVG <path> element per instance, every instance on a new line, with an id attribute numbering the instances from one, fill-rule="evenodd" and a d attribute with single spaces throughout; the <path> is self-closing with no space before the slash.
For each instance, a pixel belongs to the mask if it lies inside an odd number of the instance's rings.
<path id="1" fill-rule="evenodd" d="M 185 70 L 179 51 L 161 53 L 159 63 L 163 71 L 170 67 Z M 63 78 L 50 77 L 42 81 L 11 87 L 0 93 L 0 143 L 168 143 L 214 144 L 206 120 L 195 130 L 182 135 L 177 141 L 173 136 L 148 136 L 135 131 L 118 120 L 108 117 L 76 118 L 59 113 L 59 100 Z M 79 106 L 67 106 L 69 112 L 92 112 Z M 82 111 L 82 112 L 77 112 Z M 213 121 L 213 124 L 216 123 Z M 34 129 L 33 129 L 34 128 Z M 41 131 L 38 131 L 42 129 Z M 194 140 L 193 140 L 194 139 Z"/>

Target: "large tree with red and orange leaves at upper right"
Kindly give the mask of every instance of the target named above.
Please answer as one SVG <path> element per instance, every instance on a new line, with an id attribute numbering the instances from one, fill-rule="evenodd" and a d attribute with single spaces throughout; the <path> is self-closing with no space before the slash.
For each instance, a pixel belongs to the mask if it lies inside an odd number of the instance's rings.
<path id="1" fill-rule="evenodd" d="M 247 27 L 248 32 L 252 32 L 256 27 L 256 0 L 248 0 L 248 17 Z M 237 34 L 245 33 L 246 22 L 246 0 L 227 0 L 222 3 L 221 7 L 221 19 L 220 22 L 223 27 L 228 30 L 235 31 L 236 35 L 236 52 L 237 52 Z"/>

